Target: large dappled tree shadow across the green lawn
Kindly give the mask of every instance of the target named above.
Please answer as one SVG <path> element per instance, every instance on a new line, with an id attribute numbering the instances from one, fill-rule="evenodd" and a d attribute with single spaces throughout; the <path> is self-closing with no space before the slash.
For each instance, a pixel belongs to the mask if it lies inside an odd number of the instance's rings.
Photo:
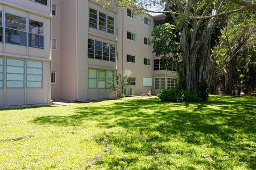
<path id="1" fill-rule="evenodd" d="M 256 152 L 256 148 L 252 143 L 256 142 L 256 126 L 255 118 L 252 119 L 251 116 L 255 115 L 256 101 L 248 98 L 235 101 L 231 99 L 212 97 L 210 103 L 191 105 L 162 103 L 157 99 L 134 99 L 111 105 L 77 107 L 73 115 L 37 117 L 33 122 L 58 126 L 84 126 L 86 121 L 95 121 L 97 123 L 94 126 L 102 129 L 102 133 L 95 134 L 95 137 L 105 138 L 110 145 L 122 150 L 124 154 L 153 155 L 156 159 L 161 159 L 157 156 L 159 153 L 193 157 L 202 153 L 189 147 L 203 146 L 206 150 L 210 148 L 211 151 L 215 148 L 225 152 L 228 159 L 239 157 L 239 162 L 254 168 L 256 158 L 253 153 Z M 104 132 L 105 129 L 111 128 L 122 130 Z M 187 148 L 169 147 L 175 141 L 180 143 L 179 145 L 183 143 Z M 211 151 L 210 157 L 213 162 L 203 158 L 191 162 L 217 169 L 232 167 L 232 163 L 223 159 L 221 151 Z M 103 159 L 97 164 L 115 167 L 121 166 L 120 163 L 126 159 L 126 162 L 131 159 L 133 164 L 140 162 L 138 157 L 106 157 L 109 159 Z M 227 164 L 224 165 L 223 162 Z M 167 166 L 167 163 L 163 164 Z M 128 165 L 123 166 L 125 168 Z M 161 168 L 164 167 L 159 166 L 159 169 Z"/>

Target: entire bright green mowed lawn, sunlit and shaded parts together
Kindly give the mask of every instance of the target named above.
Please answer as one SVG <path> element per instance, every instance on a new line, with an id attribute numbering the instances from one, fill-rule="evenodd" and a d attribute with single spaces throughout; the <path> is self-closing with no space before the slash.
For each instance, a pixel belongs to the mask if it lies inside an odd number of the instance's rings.
<path id="1" fill-rule="evenodd" d="M 255 169 L 256 98 L 0 111 L 0 169 Z"/>

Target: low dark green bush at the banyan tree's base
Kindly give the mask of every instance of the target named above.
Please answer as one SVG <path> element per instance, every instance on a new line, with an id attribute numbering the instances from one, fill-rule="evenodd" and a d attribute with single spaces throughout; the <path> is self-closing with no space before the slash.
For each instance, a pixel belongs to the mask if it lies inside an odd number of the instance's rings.
<path id="1" fill-rule="evenodd" d="M 161 101 L 174 101 L 179 103 L 203 101 L 197 93 L 182 89 L 164 89 L 158 93 L 157 97 Z"/>

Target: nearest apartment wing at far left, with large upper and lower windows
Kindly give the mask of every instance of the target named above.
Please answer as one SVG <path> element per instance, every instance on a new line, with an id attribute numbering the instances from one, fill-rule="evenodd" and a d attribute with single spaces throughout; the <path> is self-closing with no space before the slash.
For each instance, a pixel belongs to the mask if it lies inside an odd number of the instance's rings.
<path id="1" fill-rule="evenodd" d="M 50 4 L 0 1 L 0 106 L 51 102 Z"/>

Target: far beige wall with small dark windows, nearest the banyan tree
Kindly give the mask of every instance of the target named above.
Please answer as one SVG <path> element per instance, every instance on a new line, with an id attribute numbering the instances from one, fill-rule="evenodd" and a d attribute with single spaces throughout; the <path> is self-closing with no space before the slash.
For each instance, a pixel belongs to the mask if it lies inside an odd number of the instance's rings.
<path id="1" fill-rule="evenodd" d="M 144 23 L 144 17 L 151 20 L 151 26 Z M 118 13 L 119 36 L 118 36 L 118 73 L 123 74 L 125 70 L 131 70 L 132 78 L 135 78 L 135 86 L 126 86 L 129 94 L 131 88 L 135 90 L 134 95 L 141 95 L 152 90 L 152 87 L 143 86 L 143 78 L 153 79 L 153 48 L 144 44 L 144 38 L 151 39 L 153 30 L 153 18 L 151 16 L 137 15 L 135 18 L 127 16 L 127 8 Z M 135 33 L 136 40 L 127 39 L 127 31 Z M 135 56 L 135 63 L 127 62 L 126 56 Z M 151 61 L 151 65 L 144 65 L 144 58 Z"/>

